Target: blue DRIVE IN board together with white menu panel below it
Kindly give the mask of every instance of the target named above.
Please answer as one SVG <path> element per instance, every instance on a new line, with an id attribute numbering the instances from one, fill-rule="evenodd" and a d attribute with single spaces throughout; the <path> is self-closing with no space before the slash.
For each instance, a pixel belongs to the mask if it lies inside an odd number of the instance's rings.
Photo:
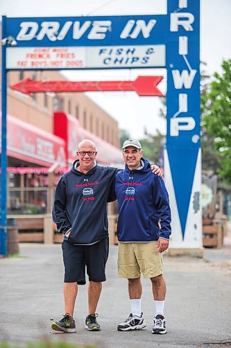
<path id="1" fill-rule="evenodd" d="M 164 68 L 167 17 L 8 18 L 8 69 Z"/>

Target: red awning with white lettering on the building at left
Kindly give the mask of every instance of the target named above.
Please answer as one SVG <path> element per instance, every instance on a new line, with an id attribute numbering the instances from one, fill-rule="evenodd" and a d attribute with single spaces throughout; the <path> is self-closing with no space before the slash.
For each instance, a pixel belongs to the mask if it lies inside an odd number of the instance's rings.
<path id="1" fill-rule="evenodd" d="M 33 125 L 8 115 L 7 154 L 40 166 L 57 162 L 67 167 L 65 141 Z"/>

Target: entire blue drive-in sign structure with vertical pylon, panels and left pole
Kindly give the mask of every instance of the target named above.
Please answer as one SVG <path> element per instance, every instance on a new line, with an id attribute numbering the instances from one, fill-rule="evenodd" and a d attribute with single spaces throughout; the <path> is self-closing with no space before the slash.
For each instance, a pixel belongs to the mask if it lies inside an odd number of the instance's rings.
<path id="1" fill-rule="evenodd" d="M 2 134 L 6 135 L 6 67 L 12 70 L 165 67 L 164 167 L 173 212 L 171 246 L 201 250 L 199 16 L 199 0 L 168 0 L 166 15 L 3 16 L 2 38 L 6 46 L 2 46 Z M 6 139 L 2 140 L 3 159 Z M 3 178 L 6 164 L 1 162 Z M 2 183 L 3 197 L 3 179 Z M 1 226 L 6 225 L 5 198 L 4 202 Z"/>

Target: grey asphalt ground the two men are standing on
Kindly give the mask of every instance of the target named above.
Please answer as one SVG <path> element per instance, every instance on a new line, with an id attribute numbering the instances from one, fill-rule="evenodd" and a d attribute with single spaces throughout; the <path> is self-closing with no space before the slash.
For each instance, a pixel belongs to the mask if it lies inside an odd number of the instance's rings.
<path id="1" fill-rule="evenodd" d="M 88 332 L 84 328 L 87 287 L 82 286 L 74 315 L 77 331 L 65 334 L 51 331 L 50 321 L 60 319 L 63 314 L 60 245 L 21 244 L 22 258 L 0 260 L 0 342 L 8 340 L 25 347 L 28 341 L 46 338 L 82 345 L 92 343 L 102 348 L 231 347 L 231 269 L 223 265 L 228 262 L 231 249 L 226 246 L 223 249 L 227 249 L 225 261 L 221 255 L 226 251 L 216 249 L 205 250 L 205 260 L 164 258 L 168 332 L 152 335 L 154 303 L 149 279 L 142 279 L 146 330 L 117 331 L 117 324 L 128 317 L 130 306 L 127 280 L 117 277 L 117 246 L 112 246 L 108 280 L 103 284 L 98 308 L 102 330 Z"/>

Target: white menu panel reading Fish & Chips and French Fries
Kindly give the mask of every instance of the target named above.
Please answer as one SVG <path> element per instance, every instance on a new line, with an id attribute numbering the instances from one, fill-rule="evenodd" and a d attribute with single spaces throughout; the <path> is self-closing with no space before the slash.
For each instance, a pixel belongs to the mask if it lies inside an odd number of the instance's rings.
<path id="1" fill-rule="evenodd" d="M 7 69 L 153 68 L 165 66 L 165 45 L 8 47 Z"/>

